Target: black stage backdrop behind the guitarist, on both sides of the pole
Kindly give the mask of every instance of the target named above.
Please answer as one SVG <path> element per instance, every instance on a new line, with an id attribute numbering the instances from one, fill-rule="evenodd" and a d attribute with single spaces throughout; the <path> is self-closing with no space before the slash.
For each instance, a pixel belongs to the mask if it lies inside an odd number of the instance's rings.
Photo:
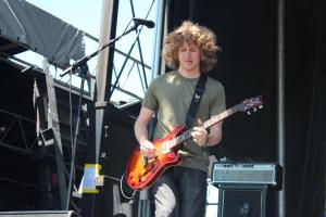
<path id="1" fill-rule="evenodd" d="M 171 0 L 170 30 L 184 20 L 206 25 L 223 48 L 211 76 L 227 106 L 264 95 L 264 108 L 224 122 L 212 150 L 235 161 L 277 161 L 277 1 Z M 323 0 L 286 1 L 286 216 L 323 216 L 325 203 L 326 38 Z"/>

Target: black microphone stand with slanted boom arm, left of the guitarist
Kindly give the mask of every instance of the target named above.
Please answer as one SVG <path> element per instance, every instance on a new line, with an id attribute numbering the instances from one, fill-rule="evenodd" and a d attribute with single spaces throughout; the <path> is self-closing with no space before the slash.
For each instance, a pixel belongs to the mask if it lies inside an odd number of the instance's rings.
<path id="1" fill-rule="evenodd" d="M 67 75 L 70 73 L 74 73 L 75 69 L 78 68 L 78 67 L 80 68 L 80 72 L 82 72 L 80 73 L 82 85 L 80 85 L 80 89 L 79 89 L 79 99 L 78 99 L 78 108 L 77 108 L 77 120 L 76 120 L 76 129 L 75 129 L 75 135 L 74 135 L 75 137 L 72 138 L 73 139 L 73 141 L 72 141 L 72 164 L 71 164 L 70 181 L 68 181 L 67 199 L 66 199 L 66 207 L 65 207 L 66 210 L 68 210 L 68 208 L 70 208 L 71 191 L 72 191 L 72 186 L 73 186 L 73 180 L 74 180 L 74 174 L 75 174 L 74 164 L 75 164 L 76 144 L 77 144 L 78 131 L 79 131 L 82 101 L 83 101 L 83 94 L 84 94 L 85 80 L 86 80 L 87 73 L 88 73 L 87 61 L 89 61 L 93 56 L 98 55 L 102 50 L 104 50 L 106 47 L 111 46 L 115 41 L 120 40 L 123 36 L 129 34 L 133 30 L 136 30 L 139 25 L 140 24 L 135 23 L 135 25 L 131 26 L 129 29 L 125 30 L 118 37 L 116 37 L 114 39 L 111 39 L 109 42 L 104 43 L 97 51 L 92 52 L 89 55 L 85 55 L 84 58 L 82 58 L 82 59 L 77 60 L 76 62 L 74 62 L 70 67 L 67 67 L 63 72 L 63 74 L 60 75 L 60 77 L 63 77 L 63 76 L 65 76 L 65 75 Z"/>

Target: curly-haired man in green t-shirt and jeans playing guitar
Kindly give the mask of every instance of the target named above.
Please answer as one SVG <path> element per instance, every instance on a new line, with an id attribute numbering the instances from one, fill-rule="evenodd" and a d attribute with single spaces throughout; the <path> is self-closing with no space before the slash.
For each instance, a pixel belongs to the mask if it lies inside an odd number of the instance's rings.
<path id="1" fill-rule="evenodd" d="M 195 87 L 200 75 L 213 68 L 217 50 L 220 48 L 214 33 L 191 22 L 184 22 L 165 38 L 162 58 L 173 72 L 161 75 L 151 82 L 135 124 L 140 153 L 147 161 L 162 154 L 148 139 L 148 124 L 152 116 L 158 114 L 154 140 L 166 137 L 175 126 L 185 125 Z M 222 122 L 206 130 L 202 127 L 202 120 L 223 111 L 224 87 L 220 81 L 208 77 L 195 117 L 197 122 L 191 126 L 192 139 L 183 142 L 183 146 L 178 146 L 176 152 L 181 158 L 180 163 L 166 168 L 151 184 L 155 216 L 204 216 L 209 166 L 206 148 L 216 145 L 222 140 Z"/>

